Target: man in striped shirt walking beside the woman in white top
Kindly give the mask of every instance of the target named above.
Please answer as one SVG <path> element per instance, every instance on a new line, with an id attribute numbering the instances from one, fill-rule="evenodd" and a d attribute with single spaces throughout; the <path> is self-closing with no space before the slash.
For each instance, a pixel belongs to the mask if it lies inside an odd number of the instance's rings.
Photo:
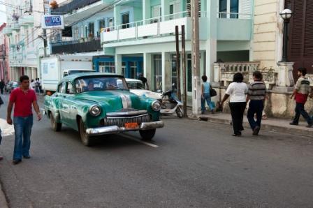
<path id="1" fill-rule="evenodd" d="M 247 119 L 252 128 L 253 135 L 259 135 L 261 128 L 262 113 L 266 94 L 266 86 L 262 79 L 262 73 L 259 70 L 254 71 L 253 82 L 249 84 L 249 91 L 247 96 L 247 102 L 250 100 Z M 254 114 L 256 114 L 256 120 L 254 119 Z"/>

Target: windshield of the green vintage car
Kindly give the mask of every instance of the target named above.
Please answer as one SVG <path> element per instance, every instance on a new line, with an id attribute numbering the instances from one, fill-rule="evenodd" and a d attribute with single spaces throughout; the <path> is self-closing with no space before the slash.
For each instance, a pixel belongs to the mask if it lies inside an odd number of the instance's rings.
<path id="1" fill-rule="evenodd" d="M 75 87 L 78 93 L 128 89 L 123 77 L 80 77 L 75 80 Z"/>

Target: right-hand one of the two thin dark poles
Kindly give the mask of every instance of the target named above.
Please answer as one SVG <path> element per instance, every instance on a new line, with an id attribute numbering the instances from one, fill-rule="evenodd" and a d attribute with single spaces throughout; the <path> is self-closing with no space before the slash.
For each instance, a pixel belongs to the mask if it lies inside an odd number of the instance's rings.
<path id="1" fill-rule="evenodd" d="M 186 44 L 184 38 L 184 25 L 182 25 L 182 85 L 184 100 L 182 101 L 184 117 L 187 117 L 187 87 L 186 87 Z"/>

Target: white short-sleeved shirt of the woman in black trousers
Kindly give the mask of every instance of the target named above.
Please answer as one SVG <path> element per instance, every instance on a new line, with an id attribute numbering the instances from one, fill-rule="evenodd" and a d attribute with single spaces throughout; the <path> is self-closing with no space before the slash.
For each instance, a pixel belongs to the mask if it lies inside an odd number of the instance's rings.
<path id="1" fill-rule="evenodd" d="M 246 94 L 248 93 L 248 86 L 244 82 L 232 82 L 226 90 L 231 103 L 246 102 Z"/>

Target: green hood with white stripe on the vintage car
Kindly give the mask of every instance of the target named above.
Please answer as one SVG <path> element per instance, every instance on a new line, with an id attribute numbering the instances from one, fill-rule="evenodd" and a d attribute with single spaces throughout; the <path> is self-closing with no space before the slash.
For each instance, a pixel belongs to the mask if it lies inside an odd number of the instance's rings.
<path id="1" fill-rule="evenodd" d="M 106 112 L 128 108 L 145 110 L 147 106 L 138 96 L 126 90 L 88 91 L 78 94 L 75 98 L 98 103 Z"/>

